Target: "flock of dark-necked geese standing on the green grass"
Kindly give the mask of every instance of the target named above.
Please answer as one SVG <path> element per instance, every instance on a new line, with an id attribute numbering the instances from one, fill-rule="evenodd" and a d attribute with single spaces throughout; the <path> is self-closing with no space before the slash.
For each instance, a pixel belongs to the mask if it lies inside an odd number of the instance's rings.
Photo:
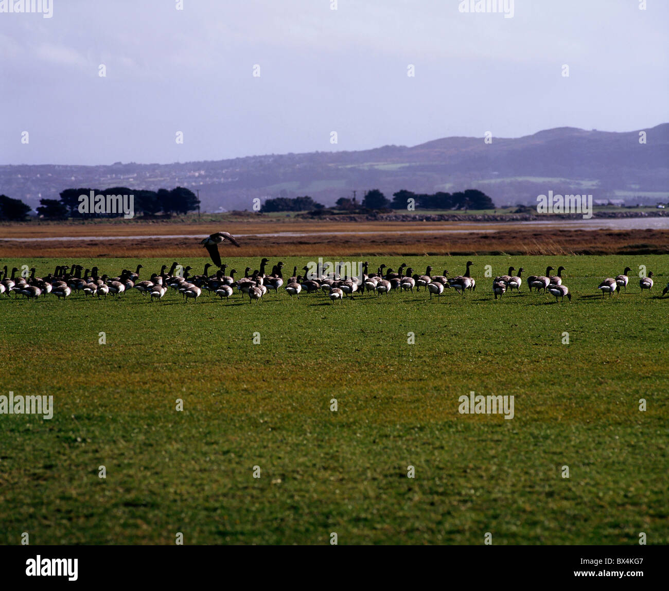
<path id="1" fill-rule="evenodd" d="M 142 265 L 137 265 L 134 272 L 123 269 L 118 277 L 109 275 L 100 275 L 98 267 L 84 269 L 82 265 L 59 265 L 54 273 L 49 273 L 44 277 L 35 277 L 35 268 L 29 269 L 26 277 L 17 277 L 19 269 L 14 267 L 9 271 L 5 266 L 0 271 L 0 296 L 4 293 L 9 296 L 15 294 L 15 298 L 23 296 L 29 300 L 52 294 L 60 300 L 65 300 L 72 293 L 83 293 L 88 298 L 106 298 L 112 296 L 120 298 L 124 293 L 136 289 L 142 296 L 148 296 L 151 300 L 162 300 L 169 289 L 173 289 L 181 294 L 185 302 L 188 300 L 196 301 L 204 291 L 209 291 L 212 296 L 218 296 L 228 300 L 235 290 L 242 294 L 242 297 L 248 296 L 250 302 L 260 302 L 268 291 L 278 292 L 283 288 L 288 296 L 300 298 L 300 293 L 322 293 L 330 298 L 332 302 L 343 301 L 345 298 L 351 298 L 355 293 L 368 292 L 375 296 L 388 296 L 391 291 L 424 291 L 429 293 L 429 298 L 433 296 L 441 298 L 446 289 L 453 289 L 460 293 L 464 298 L 466 292 L 476 291 L 476 280 L 471 275 L 472 261 L 467 261 L 466 269 L 463 275 L 449 277 L 448 269 L 445 269 L 442 275 L 433 275 L 433 267 L 427 266 L 424 275 L 414 273 L 411 267 L 406 263 L 399 265 L 397 271 L 380 265 L 375 272 L 369 271 L 369 263 L 362 265 L 362 277 L 349 277 L 341 274 L 342 264 L 337 263 L 332 272 L 312 276 L 308 273 L 309 267 L 302 267 L 303 274 L 298 275 L 298 267 L 293 268 L 292 276 L 284 278 L 282 269 L 285 265 L 279 261 L 272 267 L 272 272 L 268 273 L 269 259 L 260 261 L 260 268 L 252 271 L 251 267 L 244 270 L 244 277 L 235 277 L 238 273 L 236 269 L 231 269 L 229 275 L 226 274 L 228 265 L 221 264 L 220 269 L 215 273 L 209 273 L 213 267 L 207 263 L 201 275 L 191 275 L 192 267 L 180 267 L 175 261 L 168 269 L 163 265 L 159 272 L 152 273 L 149 279 L 141 280 L 140 270 Z M 177 272 L 177 269 L 179 272 Z M 558 267 L 557 273 L 551 275 L 554 268 L 549 266 L 545 275 L 530 275 L 522 277 L 524 269 L 520 267 L 509 267 L 507 275 L 494 277 L 492 280 L 492 293 L 494 299 L 502 298 L 505 293 L 516 290 L 520 293 L 520 287 L 525 281 L 529 291 L 535 290 L 536 293 L 550 293 L 555 296 L 555 301 L 564 301 L 565 297 L 571 302 L 571 293 L 569 287 L 563 281 L 562 273 L 565 267 Z M 617 277 L 607 277 L 597 289 L 601 290 L 602 296 L 608 293 L 609 298 L 620 289 L 627 289 L 630 277 L 628 272 L 630 267 L 625 267 L 622 275 Z M 653 273 L 648 273 L 648 277 L 642 277 L 639 285 L 642 292 L 646 289 L 651 291 L 653 287 Z M 662 296 L 669 292 L 669 283 L 662 291 Z"/>

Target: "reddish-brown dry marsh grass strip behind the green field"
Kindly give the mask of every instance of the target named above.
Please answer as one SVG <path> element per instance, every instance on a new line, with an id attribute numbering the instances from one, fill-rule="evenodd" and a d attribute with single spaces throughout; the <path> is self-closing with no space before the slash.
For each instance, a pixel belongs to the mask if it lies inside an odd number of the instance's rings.
<path id="1" fill-rule="evenodd" d="M 260 229 L 256 226 L 260 225 Z M 286 231 L 309 231 L 308 236 L 261 236 L 244 237 L 239 249 L 222 247 L 223 256 L 247 257 L 304 256 L 317 252 L 327 256 L 349 255 L 488 255 L 507 253 L 512 255 L 570 255 L 570 254 L 666 254 L 669 253 L 669 231 L 628 230 L 628 231 L 587 231 L 573 230 L 556 233 L 554 230 L 503 229 L 484 233 L 471 231 L 459 234 L 402 233 L 405 224 L 388 228 L 387 223 L 361 224 L 318 224 L 298 223 L 282 227 Z M 337 231 L 334 231 L 334 228 Z M 421 224 L 412 225 L 419 230 Z M 437 225 L 432 225 L 437 229 Z M 441 225 L 440 225 L 441 226 Z M 428 226 L 429 227 L 429 226 Z M 107 229 L 105 229 L 107 231 Z M 166 232 L 164 228 L 124 227 L 115 229 L 113 235 L 153 234 Z M 54 231 L 53 229 L 51 230 Z M 68 235 L 88 235 L 75 233 L 72 227 L 60 228 Z M 206 234 L 212 231 L 197 225 L 185 225 L 171 229 L 177 234 Z M 268 224 L 254 224 L 233 233 L 260 234 L 278 231 Z M 378 232 L 373 234 L 342 234 L 344 231 Z M 23 230 L 25 235 L 25 229 Z M 90 229 L 88 229 L 90 232 Z M 110 234 L 108 234 L 110 235 Z M 3 235 L 3 237 L 5 237 Z M 20 241 L 0 239 L 0 257 L 204 257 L 205 251 L 194 238 L 175 239 L 114 239 L 104 237 L 81 241 Z"/>

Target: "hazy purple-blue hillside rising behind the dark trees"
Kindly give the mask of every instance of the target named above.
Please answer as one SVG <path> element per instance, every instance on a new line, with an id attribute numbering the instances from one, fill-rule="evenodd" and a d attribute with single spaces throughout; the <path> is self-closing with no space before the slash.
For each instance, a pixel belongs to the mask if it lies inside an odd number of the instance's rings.
<path id="1" fill-rule="evenodd" d="M 252 199 L 310 195 L 332 205 L 357 190 L 391 197 L 480 189 L 496 205 L 536 203 L 540 193 L 592 193 L 595 199 L 669 196 L 669 123 L 639 132 L 563 127 L 522 138 L 442 138 L 418 146 L 357 152 L 271 154 L 183 164 L 0 166 L 0 194 L 36 207 L 68 187 L 199 189 L 203 211 L 252 209 Z"/>

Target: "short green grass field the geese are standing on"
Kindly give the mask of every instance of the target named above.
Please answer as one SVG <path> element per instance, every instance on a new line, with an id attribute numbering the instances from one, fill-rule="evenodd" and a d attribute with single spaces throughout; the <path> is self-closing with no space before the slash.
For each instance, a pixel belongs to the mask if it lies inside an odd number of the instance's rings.
<path id="1" fill-rule="evenodd" d="M 1 394 L 55 411 L 0 415 L 0 544 L 669 544 L 668 257 L 471 258 L 476 292 L 440 302 L 3 297 Z M 368 260 L 456 275 L 467 257 Z M 76 262 L 148 278 L 171 259 Z M 484 278 L 549 264 L 571 304 L 525 284 L 495 301 Z M 654 271 L 653 293 L 630 277 L 601 298 L 627 265 Z M 471 390 L 515 396 L 514 419 L 460 415 Z"/>

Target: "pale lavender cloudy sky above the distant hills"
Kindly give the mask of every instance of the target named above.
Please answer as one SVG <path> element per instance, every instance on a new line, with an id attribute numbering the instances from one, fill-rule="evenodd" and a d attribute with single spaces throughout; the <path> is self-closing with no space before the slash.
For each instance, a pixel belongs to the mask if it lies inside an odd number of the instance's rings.
<path id="1" fill-rule="evenodd" d="M 43 0 L 48 18 L 3 12 L 16 1 L 0 0 L 0 164 L 669 121 L 666 0 Z"/>

